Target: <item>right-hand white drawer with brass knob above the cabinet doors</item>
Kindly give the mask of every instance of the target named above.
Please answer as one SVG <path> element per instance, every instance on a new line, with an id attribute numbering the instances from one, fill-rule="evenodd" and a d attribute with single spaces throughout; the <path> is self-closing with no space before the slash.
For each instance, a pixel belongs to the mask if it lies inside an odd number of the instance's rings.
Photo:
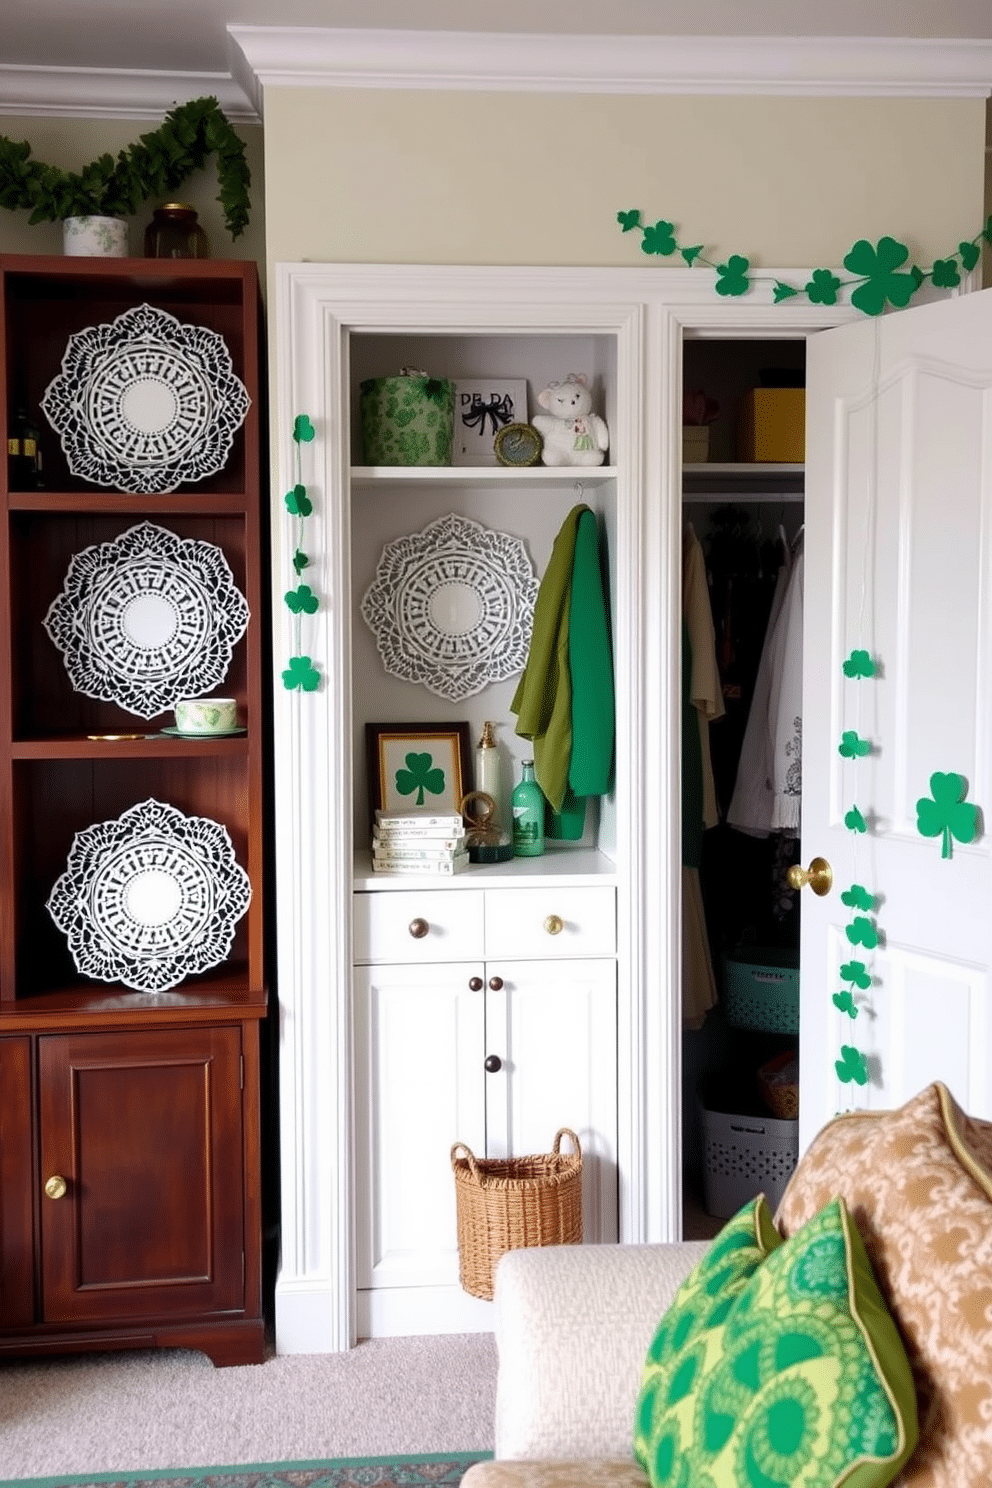
<path id="1" fill-rule="evenodd" d="M 506 888 L 486 894 L 486 960 L 614 955 L 613 888 Z"/>

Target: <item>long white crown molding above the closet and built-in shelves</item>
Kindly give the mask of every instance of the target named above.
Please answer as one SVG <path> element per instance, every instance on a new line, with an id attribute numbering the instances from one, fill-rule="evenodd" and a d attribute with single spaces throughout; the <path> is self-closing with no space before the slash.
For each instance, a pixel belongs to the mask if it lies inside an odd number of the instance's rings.
<path id="1" fill-rule="evenodd" d="M 986 98 L 992 42 L 913 37 L 531 36 L 228 27 L 262 113 L 278 88 Z"/>

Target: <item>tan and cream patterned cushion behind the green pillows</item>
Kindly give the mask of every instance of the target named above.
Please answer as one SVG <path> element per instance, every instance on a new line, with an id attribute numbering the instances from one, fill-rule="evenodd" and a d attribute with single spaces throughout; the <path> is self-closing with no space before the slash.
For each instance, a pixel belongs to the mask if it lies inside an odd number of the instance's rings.
<path id="1" fill-rule="evenodd" d="M 992 1485 L 992 1123 L 943 1085 L 830 1122 L 775 1223 L 794 1235 L 834 1195 L 855 1220 L 913 1367 L 919 1446 L 900 1488 Z"/>

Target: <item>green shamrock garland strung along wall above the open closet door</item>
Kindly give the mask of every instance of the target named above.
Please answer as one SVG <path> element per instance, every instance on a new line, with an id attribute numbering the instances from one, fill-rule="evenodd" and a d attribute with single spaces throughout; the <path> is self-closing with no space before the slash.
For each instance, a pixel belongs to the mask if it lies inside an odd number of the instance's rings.
<path id="1" fill-rule="evenodd" d="M 683 247 L 675 240 L 672 222 L 644 223 L 637 208 L 619 211 L 617 222 L 623 232 L 641 234 L 642 253 L 660 257 L 678 253 L 689 268 L 700 263 L 714 269 L 717 295 L 747 295 L 751 289 L 751 260 L 739 253 L 732 253 L 726 263 L 715 263 L 703 254 L 700 243 Z M 992 217 L 986 220 L 985 228 L 974 238 L 959 243 L 955 253 L 946 259 L 935 259 L 928 269 L 921 269 L 915 263 L 907 266 L 909 248 L 904 243 L 885 237 L 872 244 L 867 238 L 858 238 L 843 259 L 843 266 L 848 274 L 854 275 L 852 278 L 842 280 L 833 269 L 814 269 L 802 289 L 775 280 L 772 293 L 776 305 L 784 299 L 796 299 L 803 295 L 812 305 L 836 305 L 840 290 L 854 286 L 851 304 L 855 310 L 866 315 L 880 315 L 886 305 L 894 305 L 897 310 L 909 305 L 927 280 L 931 280 L 937 289 L 956 289 L 961 284 L 962 272 L 970 274 L 982 257 L 982 243 L 992 244 Z"/>

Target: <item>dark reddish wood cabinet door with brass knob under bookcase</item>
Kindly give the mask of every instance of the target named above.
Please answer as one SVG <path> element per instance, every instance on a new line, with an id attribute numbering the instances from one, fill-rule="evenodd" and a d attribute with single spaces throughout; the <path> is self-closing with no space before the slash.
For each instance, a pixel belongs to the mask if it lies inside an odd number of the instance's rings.
<path id="1" fill-rule="evenodd" d="M 236 1025 L 39 1039 L 46 1323 L 244 1308 L 241 1054 Z"/>

